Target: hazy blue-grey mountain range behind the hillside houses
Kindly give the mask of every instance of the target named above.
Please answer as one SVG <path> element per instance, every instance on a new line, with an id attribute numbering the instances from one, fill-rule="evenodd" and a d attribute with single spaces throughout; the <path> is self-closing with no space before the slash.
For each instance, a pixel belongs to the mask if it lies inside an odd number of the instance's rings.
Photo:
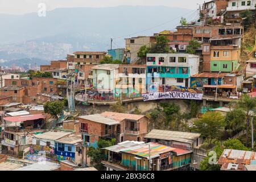
<path id="1" fill-rule="evenodd" d="M 192 10 L 165 6 L 77 7 L 25 15 L 0 14 L 0 60 L 64 59 L 73 51 L 125 47 L 124 38 L 174 29 Z M 187 14 L 187 16 L 185 15 Z M 115 39 L 116 38 L 116 39 Z"/>

